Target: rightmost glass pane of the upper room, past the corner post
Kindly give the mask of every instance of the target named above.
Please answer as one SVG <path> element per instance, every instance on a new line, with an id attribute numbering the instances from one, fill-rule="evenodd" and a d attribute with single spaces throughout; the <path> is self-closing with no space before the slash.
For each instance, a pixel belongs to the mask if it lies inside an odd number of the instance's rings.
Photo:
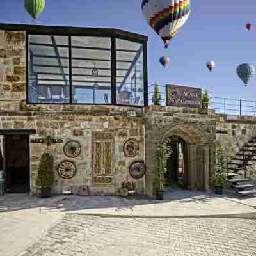
<path id="1" fill-rule="evenodd" d="M 143 106 L 143 44 L 116 39 L 116 102 Z"/>

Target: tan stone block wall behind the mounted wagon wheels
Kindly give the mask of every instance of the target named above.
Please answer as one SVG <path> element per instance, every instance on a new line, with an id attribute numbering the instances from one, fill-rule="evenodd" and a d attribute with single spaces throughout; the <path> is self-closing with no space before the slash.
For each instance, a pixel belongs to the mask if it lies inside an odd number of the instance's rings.
<path id="1" fill-rule="evenodd" d="M 90 107 L 87 107 L 88 109 Z M 17 112 L 0 113 L 0 129 L 36 129 L 36 134 L 31 139 L 45 138 L 51 134 L 52 138 L 62 138 L 63 143 L 52 143 L 49 152 L 54 156 L 54 186 L 53 193 L 63 193 L 71 185 L 88 185 L 93 195 L 118 193 L 121 184 L 125 180 L 134 181 L 138 193 L 145 191 L 144 177 L 134 180 L 129 175 L 129 166 L 133 161 L 144 160 L 144 125 L 143 118 L 127 115 L 127 111 L 121 114 L 119 111 L 106 115 L 101 112 L 102 107 L 93 107 L 94 112 Z M 98 109 L 98 111 L 97 111 Z M 106 109 L 106 108 L 104 108 Z M 127 108 L 124 108 L 127 110 Z M 129 112 L 128 112 L 129 113 Z M 113 133 L 113 182 L 111 184 L 92 184 L 92 132 Z M 138 141 L 139 152 L 135 157 L 124 155 L 124 143 L 133 138 Z M 69 159 L 63 152 L 63 145 L 67 141 L 76 140 L 81 144 L 81 154 Z M 31 159 L 31 193 L 36 193 L 35 178 L 40 163 L 40 156 L 46 150 L 42 143 L 30 144 Z M 77 174 L 72 179 L 62 179 L 57 175 L 58 165 L 63 160 L 71 160 L 76 164 Z"/>

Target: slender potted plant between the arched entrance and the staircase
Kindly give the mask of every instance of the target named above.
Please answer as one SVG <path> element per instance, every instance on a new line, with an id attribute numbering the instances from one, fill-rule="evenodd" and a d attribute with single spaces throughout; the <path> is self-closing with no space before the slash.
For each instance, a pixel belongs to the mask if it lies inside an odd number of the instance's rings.
<path id="1" fill-rule="evenodd" d="M 225 150 L 221 147 L 220 142 L 216 143 L 216 154 L 215 154 L 215 173 L 212 175 L 212 182 L 214 184 L 215 193 L 222 195 L 223 187 L 226 183 L 226 156 Z"/>

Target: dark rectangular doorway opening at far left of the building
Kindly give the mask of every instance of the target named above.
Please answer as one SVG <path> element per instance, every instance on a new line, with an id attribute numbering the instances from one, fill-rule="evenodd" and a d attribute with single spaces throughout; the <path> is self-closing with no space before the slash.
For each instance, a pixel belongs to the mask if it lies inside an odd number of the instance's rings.
<path id="1" fill-rule="evenodd" d="M 29 192 L 29 135 L 4 136 L 4 165 L 7 193 Z"/>

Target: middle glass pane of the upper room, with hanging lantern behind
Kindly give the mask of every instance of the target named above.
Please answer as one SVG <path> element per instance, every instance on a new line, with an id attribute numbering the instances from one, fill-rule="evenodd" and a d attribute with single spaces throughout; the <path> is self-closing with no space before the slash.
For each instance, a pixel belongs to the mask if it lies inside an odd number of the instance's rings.
<path id="1" fill-rule="evenodd" d="M 72 102 L 111 104 L 111 39 L 72 36 Z"/>

